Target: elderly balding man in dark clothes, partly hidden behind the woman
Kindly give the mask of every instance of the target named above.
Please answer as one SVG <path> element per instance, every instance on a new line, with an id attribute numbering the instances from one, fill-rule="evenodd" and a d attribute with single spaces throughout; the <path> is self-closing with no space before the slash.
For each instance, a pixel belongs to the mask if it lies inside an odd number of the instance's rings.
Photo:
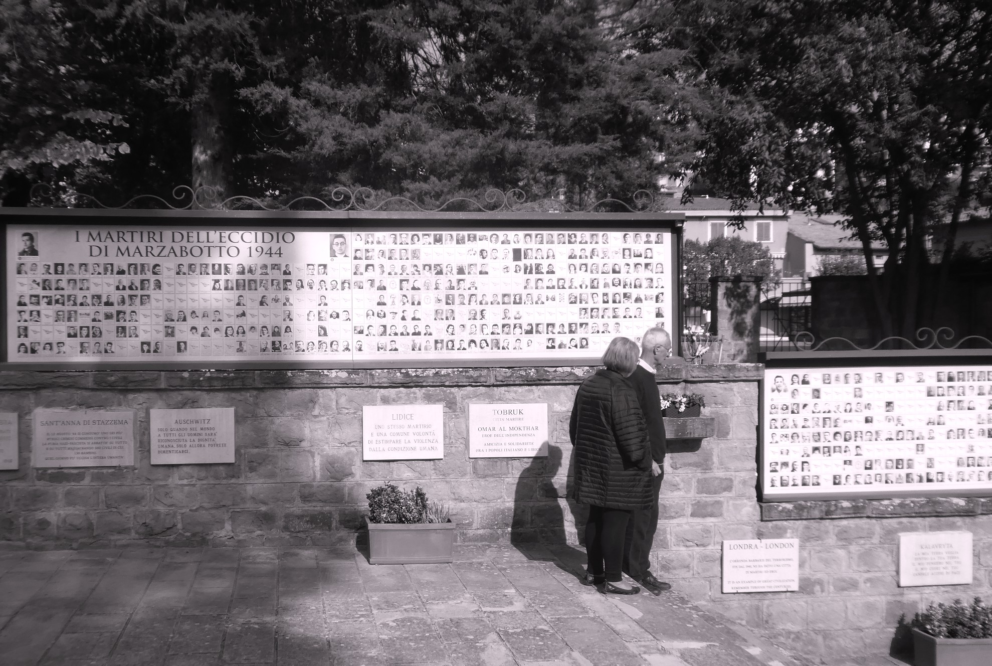
<path id="1" fill-rule="evenodd" d="M 656 368 L 672 355 L 672 337 L 661 327 L 648 329 L 641 340 L 641 358 L 627 381 L 634 387 L 648 428 L 653 460 L 650 509 L 632 512 L 627 523 L 623 570 L 653 595 L 660 595 L 672 586 L 651 573 L 651 546 L 658 529 L 658 494 L 662 488 L 665 454 L 665 421 L 662 418 L 661 394 L 655 379 Z"/>

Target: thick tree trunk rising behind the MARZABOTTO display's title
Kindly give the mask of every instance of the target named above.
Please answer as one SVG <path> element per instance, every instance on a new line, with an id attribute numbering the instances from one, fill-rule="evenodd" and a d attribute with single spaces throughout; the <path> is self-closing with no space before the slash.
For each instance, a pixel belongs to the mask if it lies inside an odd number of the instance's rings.
<path id="1" fill-rule="evenodd" d="M 192 189 L 196 193 L 193 207 L 216 207 L 229 196 L 230 114 L 227 77 L 204 75 L 192 107 Z"/>

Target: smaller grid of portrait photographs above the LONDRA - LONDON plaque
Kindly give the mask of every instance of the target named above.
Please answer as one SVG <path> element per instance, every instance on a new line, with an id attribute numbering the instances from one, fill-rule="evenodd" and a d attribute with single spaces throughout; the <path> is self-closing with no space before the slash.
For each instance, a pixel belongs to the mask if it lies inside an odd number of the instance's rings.
<path id="1" fill-rule="evenodd" d="M 992 488 L 992 364 L 765 370 L 766 496 Z"/>

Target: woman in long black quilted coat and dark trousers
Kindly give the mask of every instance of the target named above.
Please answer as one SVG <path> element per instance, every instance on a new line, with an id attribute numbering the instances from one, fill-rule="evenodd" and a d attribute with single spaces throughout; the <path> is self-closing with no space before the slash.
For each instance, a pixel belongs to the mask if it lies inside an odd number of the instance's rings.
<path id="1" fill-rule="evenodd" d="M 589 505 L 583 582 L 615 595 L 640 592 L 623 581 L 624 536 L 630 512 L 652 505 L 648 429 L 626 379 L 639 352 L 634 340 L 613 338 L 603 354 L 606 367 L 578 387 L 568 429 L 575 448 L 572 498 Z"/>

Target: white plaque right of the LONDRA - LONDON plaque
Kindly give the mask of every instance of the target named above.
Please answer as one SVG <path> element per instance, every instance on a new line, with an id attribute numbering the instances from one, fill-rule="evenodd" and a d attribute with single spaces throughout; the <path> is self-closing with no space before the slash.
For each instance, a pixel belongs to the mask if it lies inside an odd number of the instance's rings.
<path id="1" fill-rule="evenodd" d="M 899 586 L 970 585 L 971 532 L 899 535 Z"/>

